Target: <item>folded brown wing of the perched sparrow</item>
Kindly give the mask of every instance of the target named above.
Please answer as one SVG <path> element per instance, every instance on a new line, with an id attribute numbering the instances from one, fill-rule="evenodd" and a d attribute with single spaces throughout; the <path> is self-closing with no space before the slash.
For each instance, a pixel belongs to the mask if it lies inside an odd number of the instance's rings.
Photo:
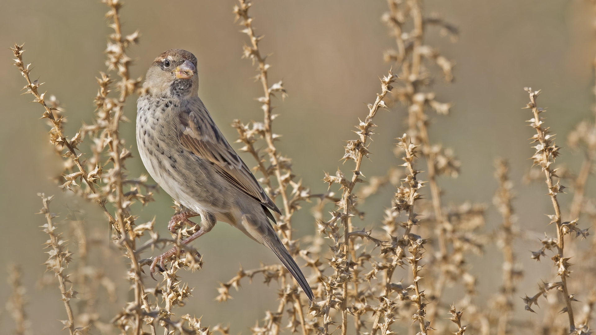
<path id="1" fill-rule="evenodd" d="M 204 106 L 200 108 L 203 110 L 185 110 L 179 114 L 183 128 L 180 136 L 182 146 L 201 159 L 213 163 L 217 172 L 238 190 L 281 214 L 280 209 L 263 191 L 253 173 L 221 134 Z"/>

